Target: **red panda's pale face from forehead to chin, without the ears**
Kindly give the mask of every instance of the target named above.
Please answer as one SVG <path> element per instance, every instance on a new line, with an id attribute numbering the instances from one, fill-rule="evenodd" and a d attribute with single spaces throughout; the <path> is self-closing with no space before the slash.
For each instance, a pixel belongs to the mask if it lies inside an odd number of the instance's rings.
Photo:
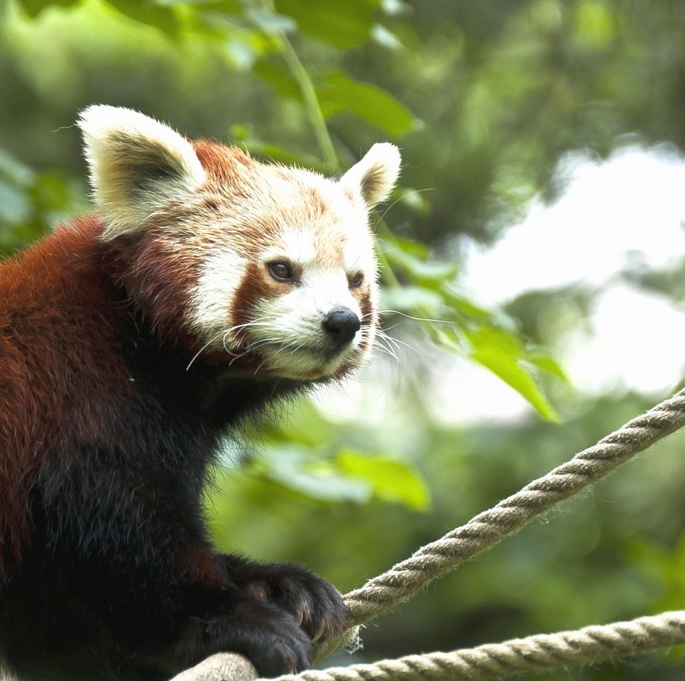
<path id="1" fill-rule="evenodd" d="M 216 245 L 193 291 L 192 327 L 236 369 L 343 375 L 368 356 L 377 324 L 368 208 L 345 178 L 256 164 L 249 173 L 233 190 L 214 188 Z"/>

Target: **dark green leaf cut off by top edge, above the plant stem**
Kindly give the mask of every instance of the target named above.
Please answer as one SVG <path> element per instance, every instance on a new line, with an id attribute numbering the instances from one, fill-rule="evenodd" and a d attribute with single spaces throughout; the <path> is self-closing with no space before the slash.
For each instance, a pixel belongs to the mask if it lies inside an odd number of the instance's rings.
<path id="1" fill-rule="evenodd" d="M 378 0 L 275 0 L 279 14 L 297 21 L 301 32 L 336 47 L 359 45 L 369 37 Z"/>

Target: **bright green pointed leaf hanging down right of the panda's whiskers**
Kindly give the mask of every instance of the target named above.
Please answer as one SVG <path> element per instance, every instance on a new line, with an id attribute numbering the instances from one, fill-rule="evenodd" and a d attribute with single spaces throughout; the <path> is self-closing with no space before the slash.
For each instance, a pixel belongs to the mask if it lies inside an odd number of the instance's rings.
<path id="1" fill-rule="evenodd" d="M 472 345 L 470 354 L 473 360 L 512 386 L 544 419 L 557 423 L 561 420 L 532 373 L 525 369 L 523 362 L 527 357 L 518 338 L 503 329 L 488 327 L 466 331 L 466 337 Z"/>

